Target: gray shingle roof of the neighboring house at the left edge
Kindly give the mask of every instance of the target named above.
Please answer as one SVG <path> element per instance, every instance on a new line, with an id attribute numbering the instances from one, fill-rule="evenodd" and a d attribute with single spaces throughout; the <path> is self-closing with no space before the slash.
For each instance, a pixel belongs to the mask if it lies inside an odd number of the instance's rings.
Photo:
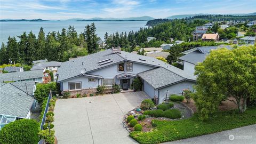
<path id="1" fill-rule="evenodd" d="M 14 86 L 15 85 L 15 86 Z M 5 83 L 0 89 L 0 114 L 10 115 L 15 117 L 26 117 L 34 102 L 34 97 L 28 95 L 23 90 L 25 83 Z M 21 89 L 18 89 L 20 87 Z M 34 85 L 29 83 L 28 89 L 34 88 Z M 30 92 L 31 93 L 31 92 Z"/>

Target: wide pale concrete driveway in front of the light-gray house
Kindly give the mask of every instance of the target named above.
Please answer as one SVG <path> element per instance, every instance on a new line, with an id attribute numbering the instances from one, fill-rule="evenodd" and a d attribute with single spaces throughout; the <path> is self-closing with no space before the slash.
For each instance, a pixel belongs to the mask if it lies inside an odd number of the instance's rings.
<path id="1" fill-rule="evenodd" d="M 54 130 L 58 143 L 137 143 L 123 127 L 123 116 L 148 99 L 144 92 L 57 100 Z"/>

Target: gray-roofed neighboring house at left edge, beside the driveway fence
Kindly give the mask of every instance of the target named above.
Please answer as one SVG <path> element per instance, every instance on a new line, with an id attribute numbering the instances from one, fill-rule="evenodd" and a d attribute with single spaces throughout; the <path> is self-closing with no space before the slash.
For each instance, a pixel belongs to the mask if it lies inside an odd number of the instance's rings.
<path id="1" fill-rule="evenodd" d="M 34 98 L 36 82 L 1 83 L 0 86 L 0 130 L 17 119 L 30 119 L 37 106 Z"/>

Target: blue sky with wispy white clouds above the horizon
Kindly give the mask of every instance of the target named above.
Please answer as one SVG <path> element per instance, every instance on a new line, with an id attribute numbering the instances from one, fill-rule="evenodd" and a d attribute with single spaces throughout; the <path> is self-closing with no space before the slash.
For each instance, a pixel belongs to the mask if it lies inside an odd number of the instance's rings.
<path id="1" fill-rule="evenodd" d="M 178 14 L 252 12 L 256 12 L 256 0 L 0 0 L 0 19 L 66 20 L 145 15 L 166 18 Z"/>

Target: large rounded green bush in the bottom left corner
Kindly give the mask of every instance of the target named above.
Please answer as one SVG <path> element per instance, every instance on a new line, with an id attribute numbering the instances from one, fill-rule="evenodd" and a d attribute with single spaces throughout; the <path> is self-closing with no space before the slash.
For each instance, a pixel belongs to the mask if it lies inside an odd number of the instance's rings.
<path id="1" fill-rule="evenodd" d="M 35 119 L 19 119 L 0 131 L 0 143 L 38 143 L 39 123 Z"/>

